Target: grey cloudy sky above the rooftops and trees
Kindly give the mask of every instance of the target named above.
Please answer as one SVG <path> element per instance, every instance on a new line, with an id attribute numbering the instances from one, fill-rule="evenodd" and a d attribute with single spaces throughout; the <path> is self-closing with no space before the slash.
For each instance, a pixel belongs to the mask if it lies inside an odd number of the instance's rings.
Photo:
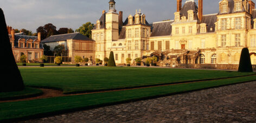
<path id="1" fill-rule="evenodd" d="M 116 9 L 123 11 L 123 21 L 141 9 L 149 23 L 173 20 L 176 0 L 115 0 Z M 186 0 L 183 0 L 183 3 Z M 195 0 L 197 3 L 198 0 Z M 203 14 L 219 11 L 220 0 L 203 0 Z M 256 0 L 253 0 L 255 2 Z M 36 29 L 47 23 L 59 28 L 78 29 L 86 22 L 96 23 L 102 11 L 108 11 L 109 0 L 1 0 L 7 25 L 14 29 Z"/>

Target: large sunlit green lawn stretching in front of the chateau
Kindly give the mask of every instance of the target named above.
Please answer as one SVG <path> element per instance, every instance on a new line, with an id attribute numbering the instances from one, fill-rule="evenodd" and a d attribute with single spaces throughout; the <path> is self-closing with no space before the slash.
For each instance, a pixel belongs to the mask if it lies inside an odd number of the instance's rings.
<path id="1" fill-rule="evenodd" d="M 133 67 L 20 68 L 20 71 L 25 86 L 56 88 L 64 93 L 254 74 L 223 70 Z"/>

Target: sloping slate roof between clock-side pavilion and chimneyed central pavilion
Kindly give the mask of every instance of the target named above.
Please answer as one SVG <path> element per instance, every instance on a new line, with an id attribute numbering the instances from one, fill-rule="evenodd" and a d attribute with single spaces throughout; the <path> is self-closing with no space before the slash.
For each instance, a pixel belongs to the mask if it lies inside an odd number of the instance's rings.
<path id="1" fill-rule="evenodd" d="M 153 23 L 150 37 L 171 35 L 171 23 L 173 22 L 174 21 L 163 21 Z"/>

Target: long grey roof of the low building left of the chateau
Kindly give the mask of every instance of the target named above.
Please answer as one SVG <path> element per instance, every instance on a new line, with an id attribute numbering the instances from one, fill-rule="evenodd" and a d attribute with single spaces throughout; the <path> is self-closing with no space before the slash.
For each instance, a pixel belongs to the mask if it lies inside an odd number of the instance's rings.
<path id="1" fill-rule="evenodd" d="M 85 40 L 85 41 L 93 41 L 90 38 L 80 34 L 80 33 L 71 33 L 71 34 L 63 34 L 63 35 L 53 35 L 47 37 L 46 39 L 42 40 L 42 43 L 48 42 L 58 42 L 58 41 L 67 41 L 67 40 Z"/>

